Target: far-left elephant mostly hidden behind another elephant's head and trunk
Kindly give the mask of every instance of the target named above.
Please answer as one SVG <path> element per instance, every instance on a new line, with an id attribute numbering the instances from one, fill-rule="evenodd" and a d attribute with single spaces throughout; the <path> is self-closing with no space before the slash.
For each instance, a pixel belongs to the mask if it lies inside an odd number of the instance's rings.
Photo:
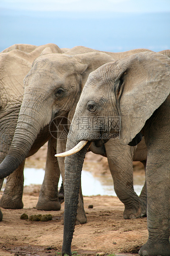
<path id="1" fill-rule="evenodd" d="M 0 53 L 0 162 L 5 158 L 12 143 L 16 123 L 23 100 L 23 78 L 31 69 L 32 63 L 42 51 L 62 52 L 57 45 L 12 45 Z M 48 130 L 48 128 L 46 128 Z M 48 140 L 48 137 L 47 139 Z M 38 142 L 38 143 L 37 143 Z M 42 143 L 42 132 L 27 156 L 34 154 Z M 23 207 L 23 163 L 7 179 L 1 206 L 10 209 Z M 3 179 L 0 180 L 0 188 Z M 2 214 L 0 214 L 2 220 Z"/>

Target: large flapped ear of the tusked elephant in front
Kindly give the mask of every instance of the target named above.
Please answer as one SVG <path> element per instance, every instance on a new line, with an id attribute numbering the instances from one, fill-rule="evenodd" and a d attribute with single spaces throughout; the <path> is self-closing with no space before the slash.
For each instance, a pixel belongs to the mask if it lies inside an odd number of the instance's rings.
<path id="1" fill-rule="evenodd" d="M 119 138 L 122 144 L 128 144 L 137 138 L 147 119 L 170 94 L 170 58 L 156 52 L 141 52 L 115 62 L 112 72 L 116 77 Z"/>

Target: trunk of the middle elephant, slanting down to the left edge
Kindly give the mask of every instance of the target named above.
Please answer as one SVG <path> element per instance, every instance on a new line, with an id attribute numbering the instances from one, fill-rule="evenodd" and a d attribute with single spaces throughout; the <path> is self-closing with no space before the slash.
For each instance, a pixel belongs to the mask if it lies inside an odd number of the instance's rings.
<path id="1" fill-rule="evenodd" d="M 40 130 L 47 125 L 44 123 L 44 118 L 46 118 L 44 113 L 46 112 L 44 106 L 35 105 L 32 108 L 31 106 L 25 106 L 23 102 L 12 145 L 7 156 L 0 164 L 0 179 L 15 171 L 26 158 Z"/>

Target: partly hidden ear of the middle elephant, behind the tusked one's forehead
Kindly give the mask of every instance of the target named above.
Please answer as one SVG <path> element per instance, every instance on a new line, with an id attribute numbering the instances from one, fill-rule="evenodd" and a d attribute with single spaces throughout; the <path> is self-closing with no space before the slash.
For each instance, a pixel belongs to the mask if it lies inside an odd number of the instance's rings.
<path id="1" fill-rule="evenodd" d="M 72 58 L 75 59 L 75 62 L 77 63 L 77 72 L 81 75 L 81 93 L 87 81 L 89 73 L 91 73 L 95 69 L 98 69 L 98 67 L 102 66 L 107 62 L 114 61 L 113 57 L 103 52 L 87 52 L 83 54 L 73 55 Z M 69 122 L 72 121 L 78 101 L 79 98 L 77 97 L 71 111 L 68 114 Z"/>

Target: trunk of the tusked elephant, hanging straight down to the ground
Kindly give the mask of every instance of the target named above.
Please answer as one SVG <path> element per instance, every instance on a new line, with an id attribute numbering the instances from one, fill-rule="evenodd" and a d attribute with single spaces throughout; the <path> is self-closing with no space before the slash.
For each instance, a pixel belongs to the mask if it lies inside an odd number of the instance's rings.
<path id="1" fill-rule="evenodd" d="M 70 137 L 70 136 L 69 136 Z M 68 137 L 66 150 L 70 150 L 79 141 L 72 142 Z M 72 136 L 74 141 L 74 136 Z M 76 143 L 77 142 L 77 143 Z M 84 162 L 84 157 L 87 149 L 90 145 L 88 142 L 79 152 L 76 154 L 65 157 L 65 207 L 64 207 L 64 235 L 63 235 L 63 247 L 62 255 L 71 255 L 71 242 L 73 232 L 75 229 L 75 221 L 77 215 L 79 185 L 81 181 L 81 171 Z"/>

